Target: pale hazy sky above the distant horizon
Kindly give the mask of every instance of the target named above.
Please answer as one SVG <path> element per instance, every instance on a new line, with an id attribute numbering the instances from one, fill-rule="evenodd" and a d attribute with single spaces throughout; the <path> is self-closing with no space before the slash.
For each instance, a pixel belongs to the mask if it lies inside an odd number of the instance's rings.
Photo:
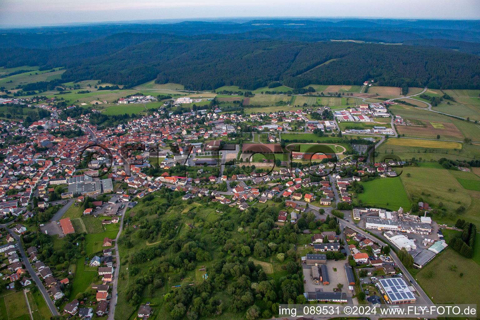
<path id="1" fill-rule="evenodd" d="M 230 17 L 480 19 L 480 0 L 0 0 L 0 25 Z"/>

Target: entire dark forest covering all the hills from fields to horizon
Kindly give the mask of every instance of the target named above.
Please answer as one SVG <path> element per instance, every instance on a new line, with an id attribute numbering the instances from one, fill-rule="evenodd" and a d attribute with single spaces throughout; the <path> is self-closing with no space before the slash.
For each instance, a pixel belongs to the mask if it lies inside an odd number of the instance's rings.
<path id="1" fill-rule="evenodd" d="M 60 41 L 62 36 L 55 33 L 39 36 L 44 41 L 41 47 L 26 39 L 24 45 L 17 43 L 15 48 L 0 49 L 0 66 L 65 66 L 62 82 L 101 79 L 127 88 L 152 79 L 156 83 L 180 83 L 187 90 L 212 90 L 223 85 L 254 90 L 272 82 L 299 89 L 310 83 L 360 85 L 370 79 L 386 86 L 480 88 L 480 57 L 456 51 L 479 52 L 480 34 L 471 22 L 420 24 L 417 33 L 410 33 L 414 36 L 403 39 L 401 46 L 325 40 L 335 38 L 334 34 L 342 37 L 348 28 L 360 32 L 360 27 L 366 30 L 366 40 L 370 39 L 369 33 L 399 36 L 405 33 L 399 25 L 413 28 L 407 22 L 397 21 L 389 26 L 389 20 L 382 24 L 367 20 L 328 24 L 305 21 L 302 27 L 287 28 L 278 21 L 264 21 L 269 25 L 267 29 L 253 27 L 261 21 L 253 22 L 242 24 L 243 33 L 233 23 L 168 24 L 158 27 L 156 32 L 152 25 L 121 25 L 118 30 L 125 31 L 121 33 L 108 26 L 78 27 L 83 36 L 74 33 L 72 27 L 64 27 L 72 36 L 70 43 Z M 219 30 L 222 25 L 223 31 Z M 330 30 L 332 35 L 318 36 L 321 25 L 324 32 Z M 476 43 L 457 41 L 461 37 L 452 35 L 459 31 L 465 39 Z M 17 39 L 28 35 L 18 32 L 11 30 L 3 36 Z M 317 36 L 306 39 L 299 33 Z M 444 38 L 425 38 L 433 33 Z"/>

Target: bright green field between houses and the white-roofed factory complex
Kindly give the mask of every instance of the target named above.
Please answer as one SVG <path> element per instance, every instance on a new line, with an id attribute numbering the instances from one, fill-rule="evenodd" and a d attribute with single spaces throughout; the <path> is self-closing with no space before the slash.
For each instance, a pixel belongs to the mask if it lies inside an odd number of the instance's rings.
<path id="1" fill-rule="evenodd" d="M 411 208 L 407 192 L 400 178 L 384 178 L 362 182 L 364 192 L 357 194 L 362 205 L 375 205 L 390 210 L 402 207 L 405 211 Z"/>

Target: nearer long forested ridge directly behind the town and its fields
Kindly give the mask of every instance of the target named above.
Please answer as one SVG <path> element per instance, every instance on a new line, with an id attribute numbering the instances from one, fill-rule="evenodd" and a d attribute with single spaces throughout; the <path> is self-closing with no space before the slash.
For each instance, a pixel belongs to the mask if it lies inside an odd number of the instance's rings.
<path id="1" fill-rule="evenodd" d="M 0 50 L 0 65 L 25 64 L 66 66 L 65 81 L 101 79 L 133 86 L 156 79 L 192 90 L 222 85 L 256 89 L 275 80 L 300 88 L 310 83 L 361 84 L 369 79 L 391 86 L 480 88 L 479 56 L 352 42 L 206 41 L 125 33 L 60 49 Z"/>

